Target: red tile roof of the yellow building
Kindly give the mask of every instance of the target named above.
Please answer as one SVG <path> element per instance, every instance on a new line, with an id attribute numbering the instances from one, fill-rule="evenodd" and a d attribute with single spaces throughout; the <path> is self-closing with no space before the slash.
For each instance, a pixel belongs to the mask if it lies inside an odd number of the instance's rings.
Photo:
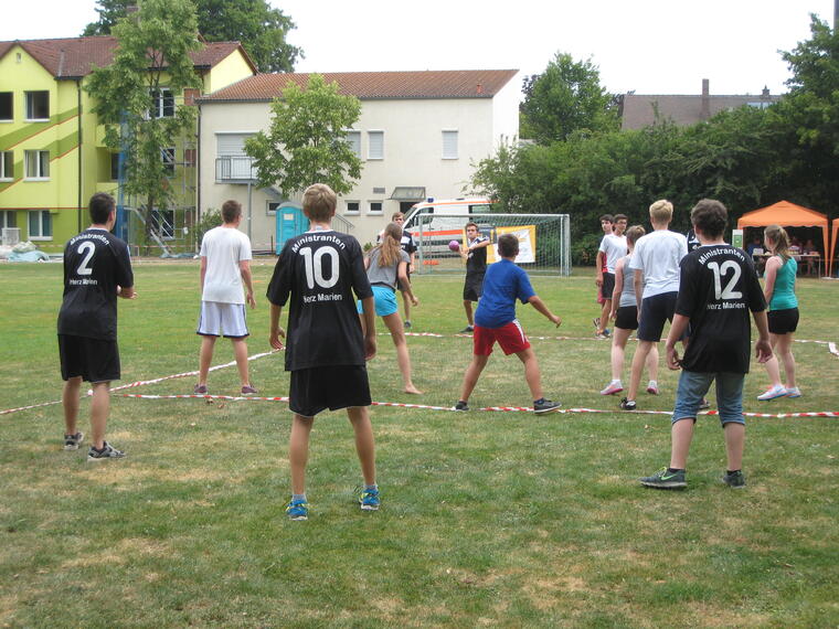
<path id="1" fill-rule="evenodd" d="M 0 42 L 0 58 L 14 45 L 20 45 L 55 78 L 77 78 L 91 73 L 92 66 L 108 65 L 117 47 L 116 38 L 67 38 L 57 40 L 17 40 Z M 254 72 L 256 66 L 238 42 L 208 42 L 191 53 L 195 67 L 213 67 L 231 53 L 240 50 Z"/>

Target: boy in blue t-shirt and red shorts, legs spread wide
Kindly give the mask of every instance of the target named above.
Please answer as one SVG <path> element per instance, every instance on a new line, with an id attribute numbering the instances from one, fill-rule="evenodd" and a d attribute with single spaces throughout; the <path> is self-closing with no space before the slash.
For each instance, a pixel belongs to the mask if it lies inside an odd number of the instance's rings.
<path id="1" fill-rule="evenodd" d="M 524 363 L 524 379 L 528 381 L 533 397 L 533 411 L 539 414 L 557 411 L 561 404 L 545 399 L 542 395 L 539 363 L 524 335 L 524 330 L 516 319 L 516 299 L 520 299 L 522 303 L 532 303 L 533 308 L 553 321 L 556 327 L 562 323 L 562 320 L 551 312 L 533 291 L 528 274 L 516 266 L 519 239 L 512 234 L 500 236 L 498 253 L 501 259 L 487 268 L 484 278 L 484 295 L 475 312 L 474 355 L 464 374 L 460 399 L 455 411 L 469 411 L 467 404 L 469 395 L 478 383 L 484 367 L 487 366 L 496 341 L 506 355 L 514 353 Z"/>

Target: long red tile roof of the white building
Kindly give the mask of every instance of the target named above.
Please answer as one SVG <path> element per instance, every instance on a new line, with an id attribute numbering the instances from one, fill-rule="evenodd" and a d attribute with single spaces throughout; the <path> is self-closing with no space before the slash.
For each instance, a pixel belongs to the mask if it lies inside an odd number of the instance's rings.
<path id="1" fill-rule="evenodd" d="M 518 70 L 447 70 L 422 72 L 327 72 L 327 83 L 363 99 L 376 98 L 491 98 Z M 309 74 L 257 74 L 199 99 L 200 103 L 272 100 L 288 82 L 305 87 Z"/>

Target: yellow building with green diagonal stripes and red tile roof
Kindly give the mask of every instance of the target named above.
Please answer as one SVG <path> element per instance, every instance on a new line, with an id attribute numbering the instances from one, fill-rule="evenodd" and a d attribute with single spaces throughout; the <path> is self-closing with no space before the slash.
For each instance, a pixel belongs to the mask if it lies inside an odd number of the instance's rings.
<path id="1" fill-rule="evenodd" d="M 17 227 L 21 241 L 45 252 L 63 250 L 87 226 L 92 194 L 118 193 L 118 153 L 105 146 L 93 97 L 84 90 L 93 67 L 108 65 L 116 46 L 109 36 L 0 42 L 0 227 Z M 201 89 L 161 89 L 150 115 L 171 116 L 176 102 L 191 105 L 256 73 L 238 42 L 206 43 L 191 56 Z M 177 202 L 156 218 L 162 238 L 174 241 L 195 216 L 194 135 L 161 159 L 171 163 Z"/>

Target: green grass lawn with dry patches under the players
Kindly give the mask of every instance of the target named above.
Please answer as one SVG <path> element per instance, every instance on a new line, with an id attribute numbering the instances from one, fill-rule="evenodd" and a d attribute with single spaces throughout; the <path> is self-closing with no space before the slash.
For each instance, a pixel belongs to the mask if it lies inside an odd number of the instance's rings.
<path id="1" fill-rule="evenodd" d="M 274 258 L 254 264 L 263 296 Z M 198 263 L 140 262 L 139 297 L 119 302 L 123 381 L 198 367 Z M 343 413 L 312 431 L 308 522 L 288 522 L 290 416 L 279 402 L 114 395 L 108 438 L 119 461 L 62 450 L 60 405 L 0 415 L 0 626 L 272 627 L 839 625 L 838 418 L 747 419 L 748 487 L 719 483 L 715 417 L 700 418 L 689 489 L 646 490 L 668 462 L 667 415 L 617 411 L 608 341 L 592 338 L 593 273 L 534 278 L 560 330 L 530 307 L 545 394 L 607 413 L 454 414 L 374 407 L 383 508 L 354 503 L 360 471 Z M 387 337 L 370 363 L 373 399 L 452 406 L 470 358 L 461 276 L 418 277 L 408 341 L 414 382 L 400 393 Z M 60 399 L 55 317 L 61 265 L 0 265 L 0 411 Z M 798 282 L 798 339 L 839 341 L 839 282 Z M 248 313 L 249 353 L 268 350 L 268 306 Z M 381 322 L 381 321 L 380 321 Z M 383 326 L 381 326 L 383 330 Z M 633 345 L 628 348 L 631 354 Z M 796 343 L 804 396 L 750 412 L 839 411 L 839 358 Z M 215 364 L 232 360 L 216 345 Z M 677 381 L 640 409 L 670 411 Z M 265 396 L 288 392 L 283 355 L 252 363 Z M 194 376 L 131 393 L 191 393 Z M 117 384 L 117 383 L 115 383 Z M 235 369 L 210 376 L 234 395 Z M 530 405 L 521 365 L 496 352 L 470 406 Z M 89 431 L 88 401 L 81 429 Z"/>

